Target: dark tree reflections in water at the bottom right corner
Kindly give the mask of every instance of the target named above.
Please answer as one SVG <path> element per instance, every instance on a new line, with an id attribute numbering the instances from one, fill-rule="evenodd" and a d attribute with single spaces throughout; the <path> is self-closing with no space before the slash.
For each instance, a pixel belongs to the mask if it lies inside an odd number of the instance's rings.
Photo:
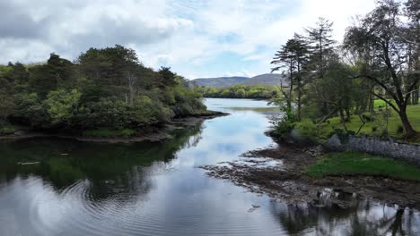
<path id="1" fill-rule="evenodd" d="M 289 234 L 414 235 L 419 232 L 416 227 L 419 219 L 414 210 L 372 204 L 345 192 L 319 193 L 311 204 L 273 202 L 271 213 Z"/>

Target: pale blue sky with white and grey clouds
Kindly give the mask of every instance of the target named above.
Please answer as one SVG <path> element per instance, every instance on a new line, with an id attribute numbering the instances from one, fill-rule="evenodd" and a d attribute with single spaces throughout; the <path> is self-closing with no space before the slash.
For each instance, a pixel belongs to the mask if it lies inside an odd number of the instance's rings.
<path id="1" fill-rule="evenodd" d="M 0 63 L 74 60 L 131 47 L 144 65 L 188 79 L 270 72 L 276 50 L 319 17 L 340 42 L 374 0 L 0 0 Z"/>

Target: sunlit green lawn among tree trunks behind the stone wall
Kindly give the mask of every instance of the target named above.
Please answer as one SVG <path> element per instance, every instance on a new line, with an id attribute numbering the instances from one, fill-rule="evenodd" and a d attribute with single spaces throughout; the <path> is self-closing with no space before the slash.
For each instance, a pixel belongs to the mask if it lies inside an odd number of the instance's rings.
<path id="1" fill-rule="evenodd" d="M 379 105 L 383 105 L 383 103 L 383 101 L 378 100 L 375 102 L 375 107 L 379 107 Z M 420 105 L 408 105 L 407 115 L 415 130 L 420 131 Z M 372 122 L 366 122 L 359 134 L 381 136 L 381 133 L 387 127 L 386 121 L 383 117 L 383 114 L 379 111 L 377 114 L 374 114 L 373 117 L 375 120 Z M 346 122 L 346 127 L 349 131 L 357 132 L 361 125 L 362 121 L 358 115 L 352 115 L 350 122 Z M 331 133 L 334 131 L 334 129 L 344 129 L 339 117 L 328 119 L 328 122 L 320 125 L 319 127 L 321 129 L 320 132 L 326 134 Z M 402 127 L 402 122 L 397 112 L 392 110 L 388 122 L 388 133 L 391 137 L 401 139 L 404 133 L 398 132 L 398 127 Z"/>

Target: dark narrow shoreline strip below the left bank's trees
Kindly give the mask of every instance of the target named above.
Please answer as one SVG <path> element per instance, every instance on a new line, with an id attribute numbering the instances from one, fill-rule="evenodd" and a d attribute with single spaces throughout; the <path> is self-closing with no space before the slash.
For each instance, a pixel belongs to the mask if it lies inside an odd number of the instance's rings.
<path id="1" fill-rule="evenodd" d="M 166 122 L 162 126 L 149 126 L 144 127 L 142 131 L 136 131 L 135 134 L 130 136 L 89 136 L 80 135 L 68 132 L 41 132 L 41 131 L 30 131 L 22 129 L 15 131 L 11 134 L 0 135 L 2 139 L 30 139 L 30 138 L 60 138 L 60 139 L 75 139 L 85 142 L 106 142 L 106 143 L 130 143 L 130 142 L 141 142 L 141 141 L 160 141 L 162 139 L 171 139 L 171 131 L 182 129 L 188 126 L 197 125 L 199 122 L 203 122 L 207 119 L 213 119 L 215 117 L 229 115 L 222 112 L 206 111 L 206 113 L 190 115 L 188 117 L 176 118 L 171 122 Z"/>

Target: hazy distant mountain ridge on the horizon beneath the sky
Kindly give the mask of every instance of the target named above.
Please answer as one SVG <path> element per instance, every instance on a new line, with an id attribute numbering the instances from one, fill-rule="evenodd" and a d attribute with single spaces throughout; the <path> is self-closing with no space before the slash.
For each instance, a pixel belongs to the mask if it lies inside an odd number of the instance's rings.
<path id="1" fill-rule="evenodd" d="M 283 86 L 287 86 L 287 81 L 285 81 L 284 79 L 285 77 L 282 74 L 267 73 L 267 74 L 260 74 L 252 78 L 239 77 L 239 76 L 200 78 L 196 80 L 191 80 L 191 82 L 196 82 L 198 86 L 220 88 L 220 87 L 230 87 L 236 84 L 280 86 L 280 80 L 282 80 Z"/>

